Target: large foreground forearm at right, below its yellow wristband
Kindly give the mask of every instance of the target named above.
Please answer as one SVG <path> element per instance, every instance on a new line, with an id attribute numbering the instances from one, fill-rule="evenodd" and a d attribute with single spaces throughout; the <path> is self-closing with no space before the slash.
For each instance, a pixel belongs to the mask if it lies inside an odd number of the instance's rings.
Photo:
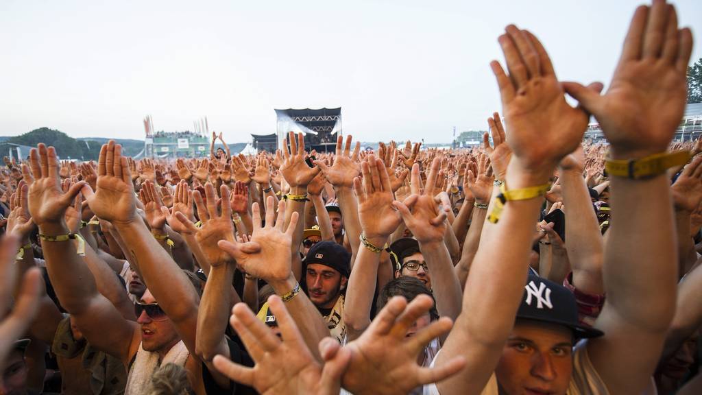
<path id="1" fill-rule="evenodd" d="M 669 181 L 662 174 L 636 181 L 614 177 L 611 183 L 616 224 L 604 258 L 607 303 L 641 330 L 665 331 L 677 283 Z"/>

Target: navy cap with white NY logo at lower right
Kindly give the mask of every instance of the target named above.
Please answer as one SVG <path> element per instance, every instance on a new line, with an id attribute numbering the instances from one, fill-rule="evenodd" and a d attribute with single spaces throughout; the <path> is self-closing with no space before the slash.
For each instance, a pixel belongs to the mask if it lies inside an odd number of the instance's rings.
<path id="1" fill-rule="evenodd" d="M 578 339 L 604 335 L 601 330 L 578 322 L 578 305 L 573 292 L 532 273 L 529 273 L 527 285 L 524 285 L 517 318 L 563 325 L 571 329 Z"/>

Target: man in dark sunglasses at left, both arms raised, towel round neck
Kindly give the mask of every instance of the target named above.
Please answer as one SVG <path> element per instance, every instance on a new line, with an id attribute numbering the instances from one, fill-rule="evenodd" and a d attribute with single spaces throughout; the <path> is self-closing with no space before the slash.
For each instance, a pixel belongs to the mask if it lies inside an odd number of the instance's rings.
<path id="1" fill-rule="evenodd" d="M 39 226 L 41 245 L 51 282 L 61 305 L 75 319 L 86 340 L 98 351 L 110 354 L 128 371 L 126 394 L 143 394 L 154 371 L 166 363 L 187 370 L 195 394 L 242 394 L 218 373 L 211 361 L 196 350 L 197 317 L 201 282 L 185 272 L 150 233 L 137 213 L 129 167 L 114 141 L 102 146 L 98 161 L 98 191 L 84 182 L 62 193 L 58 159 L 52 147 L 32 149 L 29 180 L 29 212 Z M 101 221 L 109 221 L 132 255 L 130 261 L 147 290 L 135 306 L 137 322 L 125 319 L 109 299 L 98 292 L 95 278 L 81 258 L 81 240 L 70 233 L 64 213 L 78 193 Z M 228 306 L 227 306 L 228 307 Z M 222 335 L 222 353 L 246 364 L 248 356 Z M 244 358 L 244 359 L 242 359 Z M 248 362 L 249 365 L 251 364 Z"/>

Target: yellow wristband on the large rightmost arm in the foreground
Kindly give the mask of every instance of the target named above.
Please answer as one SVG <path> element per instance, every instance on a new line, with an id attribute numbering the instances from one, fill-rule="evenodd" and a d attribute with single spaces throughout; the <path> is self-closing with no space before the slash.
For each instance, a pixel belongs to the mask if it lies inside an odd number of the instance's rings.
<path id="1" fill-rule="evenodd" d="M 660 153 L 640 160 L 608 159 L 604 163 L 607 174 L 632 180 L 647 179 L 665 173 L 670 167 L 682 166 L 690 160 L 687 150 Z"/>

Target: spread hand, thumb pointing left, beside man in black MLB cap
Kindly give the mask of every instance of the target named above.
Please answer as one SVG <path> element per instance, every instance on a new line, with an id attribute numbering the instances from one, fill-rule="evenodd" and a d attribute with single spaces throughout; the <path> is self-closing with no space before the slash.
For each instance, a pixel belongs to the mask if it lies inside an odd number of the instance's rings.
<path id="1" fill-rule="evenodd" d="M 253 234 L 251 241 L 218 242 L 219 247 L 237 260 L 241 270 L 255 278 L 263 278 L 267 282 L 286 280 L 292 274 L 290 246 L 293 231 L 298 223 L 298 213 L 294 212 L 290 224 L 284 231 L 285 200 L 278 204 L 281 213 L 275 219 L 273 197 L 266 199 L 265 226 L 261 226 L 261 216 L 258 203 L 253 203 Z M 274 224 L 275 223 L 275 224 Z"/>

